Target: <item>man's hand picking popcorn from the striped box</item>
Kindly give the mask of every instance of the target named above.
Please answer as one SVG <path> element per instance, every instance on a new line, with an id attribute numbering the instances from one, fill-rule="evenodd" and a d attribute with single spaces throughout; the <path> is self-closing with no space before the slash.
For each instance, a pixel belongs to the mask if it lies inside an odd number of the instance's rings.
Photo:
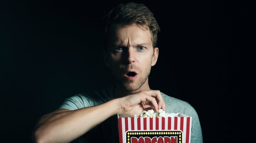
<path id="1" fill-rule="evenodd" d="M 119 113 L 133 117 L 135 114 L 141 114 L 142 111 L 153 109 L 165 110 L 165 102 L 159 90 L 142 90 L 125 97 L 120 98 Z"/>

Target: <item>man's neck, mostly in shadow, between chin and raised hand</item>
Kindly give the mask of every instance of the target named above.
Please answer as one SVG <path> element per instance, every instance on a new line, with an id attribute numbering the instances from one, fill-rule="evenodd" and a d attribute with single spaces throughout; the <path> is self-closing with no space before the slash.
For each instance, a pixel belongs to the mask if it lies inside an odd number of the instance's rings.
<path id="1" fill-rule="evenodd" d="M 127 91 L 127 90 L 123 89 L 118 83 L 116 83 L 116 85 L 113 89 L 113 96 L 114 96 L 114 98 L 121 98 L 126 95 L 130 95 L 130 94 L 139 92 L 141 90 L 151 90 L 148 85 L 148 78 L 146 79 L 145 83 L 138 90 L 135 90 L 135 91 Z"/>

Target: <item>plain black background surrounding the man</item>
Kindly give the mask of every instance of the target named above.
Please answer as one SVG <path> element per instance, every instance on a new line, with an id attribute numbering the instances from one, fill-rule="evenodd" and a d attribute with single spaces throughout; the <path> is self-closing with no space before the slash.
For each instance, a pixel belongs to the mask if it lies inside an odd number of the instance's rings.
<path id="1" fill-rule="evenodd" d="M 37 120 L 66 98 L 114 85 L 101 18 L 120 2 L 0 2 L 1 140 L 31 142 Z M 190 103 L 204 142 L 250 141 L 253 4 L 133 2 L 161 28 L 150 88 Z"/>

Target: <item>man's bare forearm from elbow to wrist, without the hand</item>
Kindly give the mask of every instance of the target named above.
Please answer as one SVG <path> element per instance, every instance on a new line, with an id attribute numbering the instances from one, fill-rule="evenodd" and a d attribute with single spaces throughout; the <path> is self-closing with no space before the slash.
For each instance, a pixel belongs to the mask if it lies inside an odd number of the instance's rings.
<path id="1" fill-rule="evenodd" d="M 38 121 L 37 142 L 70 142 L 118 114 L 119 98 L 97 106 L 50 114 Z"/>

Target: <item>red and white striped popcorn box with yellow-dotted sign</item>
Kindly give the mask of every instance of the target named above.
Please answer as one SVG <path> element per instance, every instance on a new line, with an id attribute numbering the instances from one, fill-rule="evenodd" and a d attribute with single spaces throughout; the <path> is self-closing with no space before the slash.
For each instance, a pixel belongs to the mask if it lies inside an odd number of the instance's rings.
<path id="1" fill-rule="evenodd" d="M 190 143 L 192 117 L 126 117 L 118 115 L 119 143 Z"/>

